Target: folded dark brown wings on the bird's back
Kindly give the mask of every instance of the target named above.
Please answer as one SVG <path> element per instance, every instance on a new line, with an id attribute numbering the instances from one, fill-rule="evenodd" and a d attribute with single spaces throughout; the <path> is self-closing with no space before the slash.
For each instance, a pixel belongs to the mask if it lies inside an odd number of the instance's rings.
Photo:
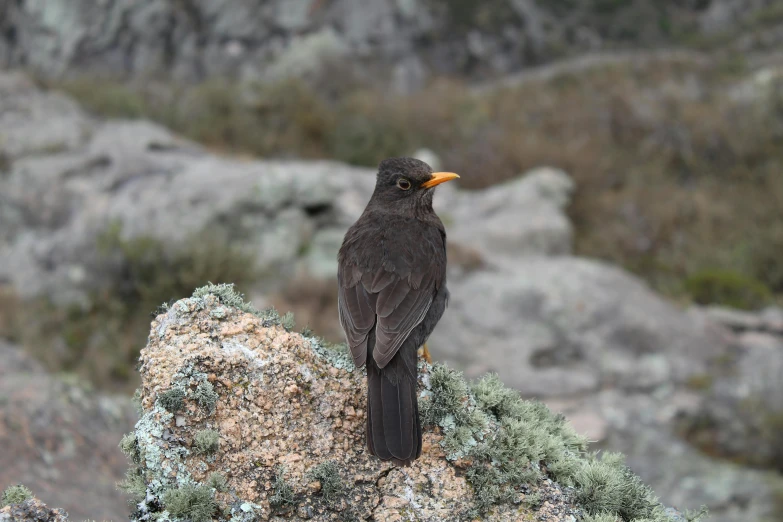
<path id="1" fill-rule="evenodd" d="M 373 359 L 383 368 L 427 315 L 446 264 L 444 239 L 433 232 L 380 246 L 386 257 L 374 268 L 341 260 L 338 310 L 357 366 L 367 360 L 367 337 L 376 323 Z"/>

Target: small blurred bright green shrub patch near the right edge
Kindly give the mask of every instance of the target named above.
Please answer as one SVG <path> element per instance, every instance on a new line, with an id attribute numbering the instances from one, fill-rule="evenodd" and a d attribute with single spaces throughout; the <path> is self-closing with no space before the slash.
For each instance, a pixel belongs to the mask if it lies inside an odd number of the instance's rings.
<path id="1" fill-rule="evenodd" d="M 720 304 L 743 310 L 756 309 L 771 299 L 760 281 L 729 270 L 702 270 L 689 276 L 685 291 L 699 304 Z"/>

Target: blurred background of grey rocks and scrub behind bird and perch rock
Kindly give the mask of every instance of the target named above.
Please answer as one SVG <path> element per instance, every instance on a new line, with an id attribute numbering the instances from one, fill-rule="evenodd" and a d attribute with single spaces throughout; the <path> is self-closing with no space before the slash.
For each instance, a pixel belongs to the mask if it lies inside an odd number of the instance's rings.
<path id="1" fill-rule="evenodd" d="M 121 519 L 150 314 L 235 282 L 340 341 L 417 155 L 462 175 L 435 359 L 782 520 L 781 48 L 775 0 L 0 0 L 0 489 Z"/>

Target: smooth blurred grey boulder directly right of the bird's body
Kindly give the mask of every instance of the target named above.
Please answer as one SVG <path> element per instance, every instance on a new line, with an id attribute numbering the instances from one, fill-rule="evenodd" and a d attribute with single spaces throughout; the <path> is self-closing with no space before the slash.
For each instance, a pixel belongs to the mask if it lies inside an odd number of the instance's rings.
<path id="1" fill-rule="evenodd" d="M 728 349 L 709 323 L 609 265 L 573 257 L 497 265 L 450 283 L 430 340 L 437 359 L 471 377 L 497 372 L 531 397 L 653 390 L 704 373 Z"/>

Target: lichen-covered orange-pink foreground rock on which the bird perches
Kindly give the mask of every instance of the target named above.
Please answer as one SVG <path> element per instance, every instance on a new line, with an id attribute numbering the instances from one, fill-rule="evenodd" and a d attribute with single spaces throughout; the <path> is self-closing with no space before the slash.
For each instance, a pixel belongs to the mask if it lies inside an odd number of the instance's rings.
<path id="1" fill-rule="evenodd" d="M 134 520 L 678 520 L 562 416 L 444 366 L 420 365 L 421 458 L 381 462 L 348 353 L 230 304 L 213 285 L 152 324 L 142 418 L 121 443 Z"/>

